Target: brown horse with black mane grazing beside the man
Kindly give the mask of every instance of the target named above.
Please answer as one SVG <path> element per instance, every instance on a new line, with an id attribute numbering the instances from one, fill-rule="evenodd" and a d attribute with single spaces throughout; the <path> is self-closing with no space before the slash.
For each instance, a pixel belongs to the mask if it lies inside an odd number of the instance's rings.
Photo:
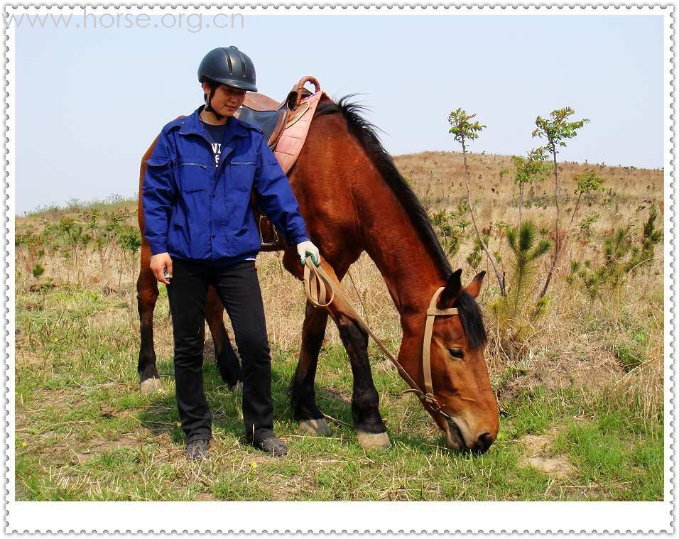
<path id="1" fill-rule="evenodd" d="M 435 317 L 430 343 L 433 391 L 445 411 L 438 413 L 428 401 L 423 405 L 445 432 L 452 450 L 484 452 L 495 440 L 499 415 L 484 359 L 487 342 L 482 313 L 474 298 L 484 273 L 462 287 L 460 273 L 450 268 L 428 216 L 391 156 L 381 146 L 376 127 L 360 114 L 362 107 L 342 97 L 335 103 L 323 96 L 310 125 L 305 147 L 288 178 L 305 218 L 308 232 L 322 255 L 322 267 L 337 283 L 362 251 L 366 251 L 384 278 L 401 315 L 403 339 L 398 361 L 423 388 L 423 339 L 430 299 L 441 309 L 457 307 L 457 315 Z M 154 142 L 155 144 L 155 142 Z M 148 158 L 153 145 L 143 159 Z M 143 232 L 141 181 L 139 227 Z M 143 233 L 142 233 L 143 238 Z M 160 387 L 153 349 L 153 308 L 158 297 L 156 278 L 149 269 L 151 257 L 142 239 L 141 271 L 137 281 L 141 319 L 138 371 L 143 391 Z M 283 265 L 298 279 L 303 266 L 295 246 L 286 246 Z M 210 327 L 219 371 L 230 386 L 241 379 L 239 360 L 223 322 L 224 307 L 210 287 L 205 319 Z M 388 447 L 379 413 L 367 354 L 368 336 L 338 298 L 325 309 L 306 305 L 302 347 L 290 383 L 293 415 L 303 430 L 329 435 L 330 428 L 316 405 L 314 379 L 327 316 L 335 321 L 354 377 L 352 415 L 359 444 Z"/>

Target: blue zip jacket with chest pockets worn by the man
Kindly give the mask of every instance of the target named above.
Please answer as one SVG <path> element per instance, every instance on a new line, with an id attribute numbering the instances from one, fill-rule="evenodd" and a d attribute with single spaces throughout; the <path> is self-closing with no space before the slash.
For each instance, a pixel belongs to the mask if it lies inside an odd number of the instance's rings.
<path id="1" fill-rule="evenodd" d="M 151 254 L 224 263 L 261 248 L 251 207 L 257 205 L 286 244 L 309 239 L 298 202 L 261 129 L 234 116 L 219 167 L 198 114 L 170 121 L 146 160 L 144 236 Z"/>

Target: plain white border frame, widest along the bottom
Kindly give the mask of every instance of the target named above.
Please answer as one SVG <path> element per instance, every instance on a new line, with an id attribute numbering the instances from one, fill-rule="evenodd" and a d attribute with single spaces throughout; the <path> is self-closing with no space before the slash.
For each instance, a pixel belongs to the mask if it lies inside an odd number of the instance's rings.
<path id="1" fill-rule="evenodd" d="M 18 10 L 16 8 L 19 8 Z M 14 501 L 14 27 L 6 28 L 6 116 L 5 116 L 5 268 L 6 285 L 6 376 L 2 404 L 5 423 L 6 533 L 26 532 L 226 532 L 232 533 L 549 533 L 549 532 L 673 532 L 674 506 L 674 413 L 675 376 L 673 375 L 672 332 L 675 323 L 676 287 L 673 286 L 674 204 L 673 204 L 673 16 L 674 6 L 656 4 L 631 5 L 531 5 L 531 6 L 445 6 L 442 4 L 227 4 L 223 6 L 125 6 L 126 12 L 160 15 L 167 9 L 214 14 L 221 9 L 238 9 L 241 13 L 276 13 L 277 15 L 662 15 L 665 31 L 665 501 L 658 502 L 26 502 Z M 82 6 L 6 6 L 6 13 L 77 13 Z M 87 6 L 88 13 L 112 13 L 114 6 Z M 669 204 L 668 204 L 669 202 Z M 668 238 L 667 231 L 671 231 Z M 671 433 L 671 436 L 669 435 Z M 76 524 L 77 523 L 77 524 Z M 190 524 L 189 524 L 190 523 Z M 418 523 L 418 526 L 414 526 Z"/>

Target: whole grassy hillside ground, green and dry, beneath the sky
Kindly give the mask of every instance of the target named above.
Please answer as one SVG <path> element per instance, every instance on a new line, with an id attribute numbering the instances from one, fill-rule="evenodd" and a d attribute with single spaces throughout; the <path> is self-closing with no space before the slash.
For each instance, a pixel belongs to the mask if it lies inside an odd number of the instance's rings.
<path id="1" fill-rule="evenodd" d="M 274 460 L 244 445 L 240 396 L 222 386 L 208 337 L 212 456 L 187 462 L 162 286 L 155 344 L 165 392 L 138 391 L 136 200 L 72 201 L 16 219 L 17 499 L 663 499 L 662 244 L 651 261 L 626 273 L 615 293 L 602 288 L 594 300 L 571 271 L 572 261 L 602 265 L 617 227 L 629 226 L 630 249 L 639 244 L 653 206 L 662 229 L 663 171 L 560 163 L 564 224 L 575 205 L 574 175 L 593 168 L 604 190 L 583 200 L 547 307 L 512 340 L 512 322 L 493 308 L 499 288 L 491 268 L 475 254 L 462 154 L 425 152 L 395 161 L 428 210 L 452 267 L 463 268 L 463 282 L 488 271 L 477 301 L 489 334 L 486 359 L 501 431 L 487 454 L 449 452 L 418 401 L 399 395 L 406 384 L 372 342 L 393 446 L 359 447 L 349 361 L 332 322 L 317 396 L 335 435 L 300 432 L 286 390 L 300 348 L 304 293 L 283 270 L 280 254 L 263 253 L 258 268 L 274 418 L 290 454 Z M 513 258 L 506 235 L 518 221 L 516 186 L 501 173 L 510 164 L 509 156 L 469 156 L 477 221 L 508 276 Z M 553 214 L 551 180 L 526 192 L 523 218 L 536 222 L 540 237 L 553 240 Z M 547 268 L 545 256 L 531 279 L 531 301 Z M 398 317 L 374 264 L 364 255 L 350 276 L 343 284 L 354 305 L 396 351 Z M 227 327 L 232 334 L 228 321 Z"/>

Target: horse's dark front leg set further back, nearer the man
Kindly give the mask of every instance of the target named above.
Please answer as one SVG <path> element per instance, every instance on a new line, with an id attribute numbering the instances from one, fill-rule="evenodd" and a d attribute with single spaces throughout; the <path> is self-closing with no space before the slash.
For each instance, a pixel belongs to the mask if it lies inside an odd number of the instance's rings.
<path id="1" fill-rule="evenodd" d="M 323 344 L 326 326 L 327 311 L 317 309 L 307 302 L 302 327 L 300 359 L 288 390 L 293 414 L 300 428 L 322 436 L 329 436 L 332 432 L 323 417 L 323 413 L 316 405 L 314 380 L 316 378 L 318 354 Z"/>

